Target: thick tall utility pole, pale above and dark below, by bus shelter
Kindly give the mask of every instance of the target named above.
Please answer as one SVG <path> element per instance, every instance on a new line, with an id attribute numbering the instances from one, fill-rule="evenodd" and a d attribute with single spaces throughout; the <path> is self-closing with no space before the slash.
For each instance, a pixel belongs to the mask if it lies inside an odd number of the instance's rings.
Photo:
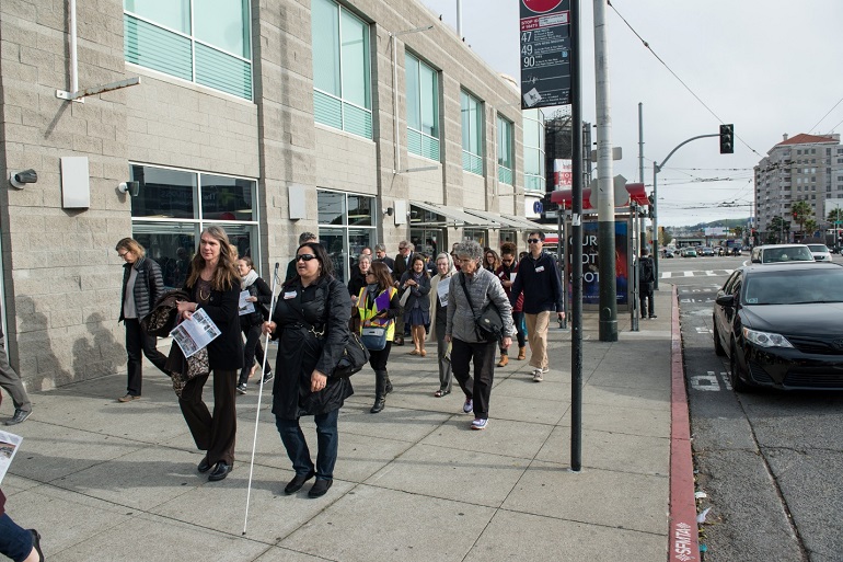
<path id="1" fill-rule="evenodd" d="M 609 106 L 607 0 L 594 0 L 594 78 L 597 102 L 597 243 L 600 260 L 600 341 L 617 341 L 617 287 L 614 259 L 614 183 L 612 116 Z"/>

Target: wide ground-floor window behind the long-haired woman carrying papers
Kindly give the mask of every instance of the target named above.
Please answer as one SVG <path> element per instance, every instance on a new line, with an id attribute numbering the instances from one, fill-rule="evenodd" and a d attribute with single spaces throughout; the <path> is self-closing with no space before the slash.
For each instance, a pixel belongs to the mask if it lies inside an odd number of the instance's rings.
<path id="1" fill-rule="evenodd" d="M 130 164 L 129 176 L 140 183 L 131 198 L 132 237 L 161 266 L 166 287 L 184 285 L 199 234 L 211 225 L 258 267 L 255 181 L 146 164 Z"/>

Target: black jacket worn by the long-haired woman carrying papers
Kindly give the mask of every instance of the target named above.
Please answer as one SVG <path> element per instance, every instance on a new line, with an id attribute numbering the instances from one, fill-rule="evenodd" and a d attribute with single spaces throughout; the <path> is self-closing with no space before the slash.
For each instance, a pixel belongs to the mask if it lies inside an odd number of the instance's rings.
<path id="1" fill-rule="evenodd" d="M 189 293 L 190 302 L 199 302 L 196 295 L 197 285 L 184 287 Z M 217 328 L 220 335 L 208 344 L 208 363 L 211 370 L 240 370 L 243 368 L 243 336 L 240 331 L 240 284 L 232 285 L 228 290 L 211 289 L 208 302 L 198 305 L 205 310 Z"/>

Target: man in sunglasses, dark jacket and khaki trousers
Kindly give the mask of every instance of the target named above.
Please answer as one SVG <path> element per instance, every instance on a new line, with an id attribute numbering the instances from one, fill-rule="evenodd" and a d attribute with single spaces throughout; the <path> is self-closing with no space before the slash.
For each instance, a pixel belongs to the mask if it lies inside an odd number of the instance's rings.
<path id="1" fill-rule="evenodd" d="M 533 368 L 533 381 L 541 382 L 544 374 L 550 370 L 547 328 L 551 323 L 551 312 L 555 311 L 559 320 L 565 318 L 565 313 L 556 261 L 542 250 L 544 232 L 530 232 L 527 242 L 530 245 L 530 253 L 518 264 L 518 275 L 512 283 L 509 301 L 515 305 L 523 293 L 527 339 L 530 342 L 530 366 Z"/>

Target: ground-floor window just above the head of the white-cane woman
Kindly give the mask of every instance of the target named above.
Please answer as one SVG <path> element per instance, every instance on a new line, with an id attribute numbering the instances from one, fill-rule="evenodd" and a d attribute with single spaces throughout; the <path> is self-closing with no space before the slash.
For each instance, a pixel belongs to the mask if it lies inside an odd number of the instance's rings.
<path id="1" fill-rule="evenodd" d="M 374 197 L 353 193 L 316 191 L 319 241 L 334 264 L 334 276 L 348 283 L 363 248 L 377 238 Z"/>

